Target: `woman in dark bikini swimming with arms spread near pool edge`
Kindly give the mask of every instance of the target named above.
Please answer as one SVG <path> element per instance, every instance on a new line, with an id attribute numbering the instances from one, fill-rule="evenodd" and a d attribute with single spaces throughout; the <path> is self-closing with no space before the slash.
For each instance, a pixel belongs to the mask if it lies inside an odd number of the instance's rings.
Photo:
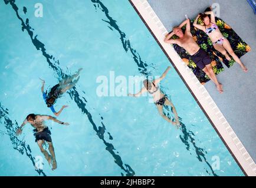
<path id="1" fill-rule="evenodd" d="M 138 97 L 138 96 L 142 95 L 142 93 L 144 93 L 144 92 L 149 92 L 153 96 L 153 100 L 156 104 L 157 110 L 160 113 L 160 115 L 163 117 L 163 119 L 172 123 L 172 125 L 179 127 L 179 125 L 180 125 L 179 117 L 178 117 L 178 114 L 176 112 L 176 109 L 175 109 L 173 103 L 170 102 L 170 100 L 167 98 L 166 95 L 163 95 L 159 86 L 157 85 L 162 79 L 165 78 L 169 69 L 170 69 L 170 66 L 168 66 L 168 68 L 165 70 L 165 72 L 163 73 L 163 75 L 160 78 L 155 79 L 152 82 L 150 82 L 148 79 L 144 80 L 143 81 L 144 87 L 140 90 L 140 92 L 136 93 L 136 94 L 129 93 L 129 96 Z M 168 105 L 168 106 L 172 107 L 173 113 L 175 115 L 175 122 L 173 122 L 172 119 L 169 119 L 169 117 L 163 113 L 163 105 Z"/>

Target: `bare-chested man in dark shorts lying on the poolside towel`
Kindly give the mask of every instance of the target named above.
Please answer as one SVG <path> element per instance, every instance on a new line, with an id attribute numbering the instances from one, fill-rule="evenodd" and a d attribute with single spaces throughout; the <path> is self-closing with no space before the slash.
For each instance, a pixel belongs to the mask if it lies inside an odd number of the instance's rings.
<path id="1" fill-rule="evenodd" d="M 181 29 L 184 25 L 186 25 L 185 33 L 183 33 Z M 218 82 L 214 70 L 212 69 L 211 59 L 208 57 L 207 53 L 202 50 L 193 40 L 190 28 L 190 21 L 189 19 L 186 19 L 186 21 L 182 22 L 182 24 L 173 28 L 173 31 L 166 36 L 165 42 L 176 43 L 180 47 L 184 48 L 192 56 L 192 59 L 195 61 L 196 65 L 202 69 L 215 83 L 219 93 L 223 93 L 222 85 Z M 179 38 L 171 39 L 173 35 L 176 35 Z"/>

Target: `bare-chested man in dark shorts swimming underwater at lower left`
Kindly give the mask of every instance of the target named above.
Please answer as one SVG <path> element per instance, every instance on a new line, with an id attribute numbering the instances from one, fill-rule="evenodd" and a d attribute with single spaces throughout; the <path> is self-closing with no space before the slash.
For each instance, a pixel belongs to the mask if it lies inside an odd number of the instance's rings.
<path id="1" fill-rule="evenodd" d="M 61 125 L 69 125 L 68 123 L 61 122 L 52 116 L 35 115 L 34 113 L 31 113 L 26 117 L 22 125 L 18 127 L 16 134 L 20 135 L 22 133 L 22 127 L 24 127 L 27 123 L 30 123 L 35 128 L 35 142 L 37 142 L 38 146 L 40 147 L 40 150 L 44 154 L 45 159 L 50 165 L 52 165 L 52 170 L 55 170 L 57 168 L 57 162 L 55 158 L 54 147 L 52 145 L 51 132 L 48 127 L 45 126 L 44 120 L 53 120 L 54 122 L 60 123 Z M 45 144 L 45 141 L 49 145 L 48 149 L 51 155 L 49 155 L 47 150 L 44 150 L 44 147 L 42 147 L 42 145 Z"/>

